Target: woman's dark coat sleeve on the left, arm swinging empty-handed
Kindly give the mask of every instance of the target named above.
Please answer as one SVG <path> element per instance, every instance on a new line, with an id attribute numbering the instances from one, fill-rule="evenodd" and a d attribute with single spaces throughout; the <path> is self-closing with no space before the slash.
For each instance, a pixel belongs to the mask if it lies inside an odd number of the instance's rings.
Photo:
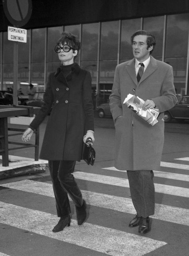
<path id="1" fill-rule="evenodd" d="M 44 103 L 29 126 L 32 130 L 36 130 L 38 128 L 38 126 L 45 119 L 45 116 L 47 116 L 49 114 L 49 112 L 51 111 L 51 107 L 53 104 L 53 92 L 51 89 L 51 75 L 52 74 L 50 74 L 48 77 L 46 90 L 45 90 L 45 93 L 43 96 Z"/>

